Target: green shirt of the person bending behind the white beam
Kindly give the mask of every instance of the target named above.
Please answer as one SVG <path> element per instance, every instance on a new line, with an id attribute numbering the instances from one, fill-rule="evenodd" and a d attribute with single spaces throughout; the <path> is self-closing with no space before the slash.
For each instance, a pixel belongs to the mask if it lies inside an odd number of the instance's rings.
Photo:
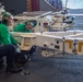
<path id="1" fill-rule="evenodd" d="M 25 33 L 31 33 L 32 30 L 26 30 L 26 25 L 24 23 L 17 24 L 14 28 L 13 32 L 25 32 Z"/>

